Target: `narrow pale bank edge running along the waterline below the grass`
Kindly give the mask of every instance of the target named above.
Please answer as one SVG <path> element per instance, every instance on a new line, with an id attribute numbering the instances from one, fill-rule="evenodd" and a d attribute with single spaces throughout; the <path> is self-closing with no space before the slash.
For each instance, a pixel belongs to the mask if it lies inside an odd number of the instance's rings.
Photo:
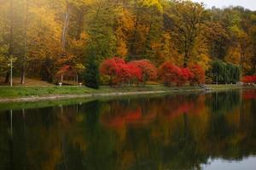
<path id="1" fill-rule="evenodd" d="M 244 86 L 230 86 L 230 85 L 207 85 L 207 87 L 212 88 L 210 92 L 224 91 L 230 89 L 248 89 L 253 87 L 244 87 Z M 254 87 L 255 88 L 255 87 Z M 150 91 L 138 91 L 137 88 L 134 88 L 132 92 L 103 92 L 103 93 L 90 93 L 90 94 L 49 94 L 42 96 L 26 96 L 18 98 L 2 98 L 0 103 L 13 103 L 13 102 L 36 102 L 44 100 L 56 100 L 56 99 L 79 99 L 79 98 L 95 98 L 95 97 L 113 97 L 113 96 L 130 96 L 130 95 L 148 95 L 148 94 L 183 94 L 183 93 L 193 93 L 193 92 L 205 92 L 207 91 L 204 88 L 171 88 L 169 90 L 150 90 Z M 209 92 L 209 91 L 207 91 Z"/>

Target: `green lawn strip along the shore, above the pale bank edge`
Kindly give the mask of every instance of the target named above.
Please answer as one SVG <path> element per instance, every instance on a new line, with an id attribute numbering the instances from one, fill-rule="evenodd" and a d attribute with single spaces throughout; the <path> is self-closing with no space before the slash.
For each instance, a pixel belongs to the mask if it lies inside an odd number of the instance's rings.
<path id="1" fill-rule="evenodd" d="M 144 91 L 172 91 L 172 90 L 193 90 L 198 87 L 165 87 L 162 85 L 147 85 L 145 87 L 115 87 L 103 86 L 99 89 L 75 86 L 54 86 L 54 87 L 0 87 L 0 98 L 21 98 L 31 96 L 47 96 L 57 94 L 108 94 L 125 92 L 144 92 Z"/>

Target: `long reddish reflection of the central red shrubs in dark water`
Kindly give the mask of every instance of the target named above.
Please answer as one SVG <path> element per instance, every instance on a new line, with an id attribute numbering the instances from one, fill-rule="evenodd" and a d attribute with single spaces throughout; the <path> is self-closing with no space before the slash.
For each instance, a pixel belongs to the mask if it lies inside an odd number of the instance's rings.
<path id="1" fill-rule="evenodd" d="M 148 105 L 122 105 L 111 103 L 111 110 L 101 116 L 101 122 L 106 127 L 119 128 L 127 125 L 142 126 L 154 122 L 160 116 L 171 121 L 183 114 L 200 114 L 205 105 L 205 96 L 189 98 L 188 96 L 177 95 L 171 99 L 159 99 Z M 131 109 L 133 108 L 133 109 Z"/>

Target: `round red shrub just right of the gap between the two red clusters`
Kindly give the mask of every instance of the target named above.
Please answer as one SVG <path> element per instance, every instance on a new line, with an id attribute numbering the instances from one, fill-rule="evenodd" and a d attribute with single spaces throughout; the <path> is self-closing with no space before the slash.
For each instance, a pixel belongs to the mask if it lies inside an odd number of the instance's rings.
<path id="1" fill-rule="evenodd" d="M 177 84 L 182 74 L 182 70 L 176 65 L 172 65 L 171 62 L 165 62 L 160 65 L 159 75 L 166 85 L 170 85 L 171 83 Z"/>

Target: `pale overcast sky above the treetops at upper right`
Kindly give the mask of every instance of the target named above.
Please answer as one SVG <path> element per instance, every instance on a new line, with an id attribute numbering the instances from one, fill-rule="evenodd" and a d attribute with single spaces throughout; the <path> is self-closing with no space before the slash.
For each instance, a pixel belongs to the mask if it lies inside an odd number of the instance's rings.
<path id="1" fill-rule="evenodd" d="M 192 0 L 193 2 L 205 3 L 207 8 L 212 8 L 216 6 L 218 8 L 232 6 L 242 6 L 244 8 L 249 8 L 251 10 L 256 10 L 256 0 Z"/>

